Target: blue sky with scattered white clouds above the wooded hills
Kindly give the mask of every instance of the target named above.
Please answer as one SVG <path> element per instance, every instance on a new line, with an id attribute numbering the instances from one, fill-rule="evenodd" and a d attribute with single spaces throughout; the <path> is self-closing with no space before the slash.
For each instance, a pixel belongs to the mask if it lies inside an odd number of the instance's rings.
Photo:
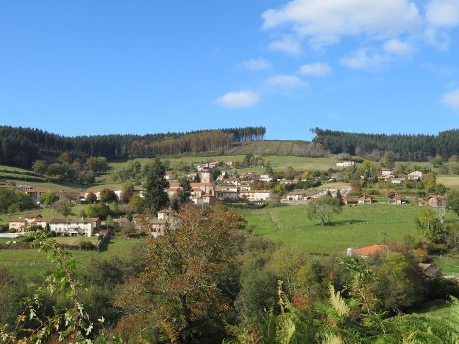
<path id="1" fill-rule="evenodd" d="M 64 135 L 459 127 L 459 0 L 4 2 L 0 123 Z"/>

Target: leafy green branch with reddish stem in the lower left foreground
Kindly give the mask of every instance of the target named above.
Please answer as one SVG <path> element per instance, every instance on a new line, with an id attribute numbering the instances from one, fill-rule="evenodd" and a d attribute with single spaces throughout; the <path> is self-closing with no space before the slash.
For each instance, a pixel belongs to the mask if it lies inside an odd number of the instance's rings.
<path id="1" fill-rule="evenodd" d="M 26 297 L 23 312 L 18 316 L 12 331 L 7 331 L 8 324 L 0 326 L 0 339 L 5 343 L 42 343 L 51 334 L 57 333 L 58 340 L 71 343 L 92 343 L 88 338 L 94 328 L 88 314 L 78 299 L 78 282 L 75 278 L 76 261 L 72 254 L 62 249 L 53 238 L 47 238 L 46 233 L 32 234 L 39 241 L 39 251 L 46 252 L 48 259 L 56 263 L 54 273 L 46 277 L 43 286 L 40 286 L 32 297 Z M 35 242 L 31 243 L 35 247 Z M 62 294 L 70 305 L 58 309 L 53 307 L 53 315 L 40 317 L 37 315 L 42 306 L 44 295 Z M 29 318 L 29 319 L 27 319 Z M 32 328 L 23 328 L 26 320 L 34 324 Z M 99 324 L 104 322 L 103 317 L 98 319 Z M 99 325 L 98 324 L 98 325 Z M 105 335 L 102 332 L 102 342 Z M 116 341 L 116 338 L 113 338 Z"/>

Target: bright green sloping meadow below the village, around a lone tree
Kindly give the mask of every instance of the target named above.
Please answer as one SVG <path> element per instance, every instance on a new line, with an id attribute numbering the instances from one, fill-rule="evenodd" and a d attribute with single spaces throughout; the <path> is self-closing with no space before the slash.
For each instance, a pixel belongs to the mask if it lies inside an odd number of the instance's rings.
<path id="1" fill-rule="evenodd" d="M 419 207 L 376 203 L 344 207 L 333 218 L 332 226 L 320 226 L 306 217 L 303 205 L 291 205 L 261 210 L 238 210 L 248 220 L 247 228 L 254 234 L 301 248 L 305 252 L 342 253 L 348 247 L 362 247 L 381 241 L 402 241 L 407 235 L 418 236 L 414 218 Z M 458 220 L 448 213 L 446 221 Z"/>

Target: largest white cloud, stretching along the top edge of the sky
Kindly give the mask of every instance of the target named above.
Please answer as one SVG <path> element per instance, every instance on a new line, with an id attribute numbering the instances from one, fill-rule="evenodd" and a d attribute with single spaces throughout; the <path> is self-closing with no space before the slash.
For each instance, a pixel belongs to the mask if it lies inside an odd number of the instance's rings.
<path id="1" fill-rule="evenodd" d="M 261 18 L 263 29 L 287 27 L 313 46 L 344 36 L 392 38 L 422 23 L 416 4 L 409 0 L 292 0 L 265 11 Z"/>

